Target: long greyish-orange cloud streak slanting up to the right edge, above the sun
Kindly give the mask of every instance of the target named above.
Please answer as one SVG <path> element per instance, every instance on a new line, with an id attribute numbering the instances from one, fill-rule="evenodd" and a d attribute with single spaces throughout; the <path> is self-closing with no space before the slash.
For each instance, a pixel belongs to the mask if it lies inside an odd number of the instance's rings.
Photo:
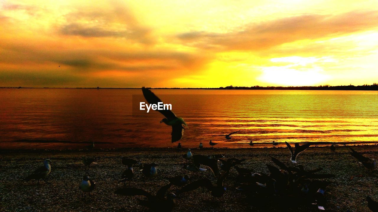
<path id="1" fill-rule="evenodd" d="M 202 49 L 261 50 L 296 40 L 366 31 L 378 26 L 378 11 L 354 11 L 340 15 L 305 14 L 259 24 L 242 31 L 211 33 L 187 32 L 177 35 L 185 45 Z"/>

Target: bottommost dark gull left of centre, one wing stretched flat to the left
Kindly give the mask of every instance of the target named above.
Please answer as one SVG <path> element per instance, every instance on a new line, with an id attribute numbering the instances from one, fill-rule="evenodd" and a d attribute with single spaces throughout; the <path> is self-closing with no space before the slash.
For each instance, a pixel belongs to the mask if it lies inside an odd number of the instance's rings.
<path id="1" fill-rule="evenodd" d="M 166 196 L 167 190 L 170 188 L 171 184 L 167 184 L 166 186 L 161 187 L 157 192 L 156 195 L 152 195 L 150 192 L 147 192 L 143 189 L 138 188 L 121 188 L 116 190 L 114 193 L 117 195 L 124 195 L 124 196 L 145 196 L 147 200 L 140 201 L 140 204 L 143 206 L 149 207 L 149 209 L 158 212 L 171 212 L 176 203 L 175 198 L 176 195 L 174 193 L 169 193 Z"/>

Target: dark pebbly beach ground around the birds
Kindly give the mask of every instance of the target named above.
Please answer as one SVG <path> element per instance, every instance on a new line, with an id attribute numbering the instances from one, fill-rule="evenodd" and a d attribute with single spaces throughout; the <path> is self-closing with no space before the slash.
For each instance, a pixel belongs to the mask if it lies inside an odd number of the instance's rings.
<path id="1" fill-rule="evenodd" d="M 378 146 L 354 146 L 365 156 L 376 158 Z M 143 163 L 158 164 L 158 176 L 153 179 L 145 178 L 135 169 L 134 179 L 126 186 L 133 186 L 152 191 L 153 194 L 167 184 L 164 177 L 179 174 L 189 174 L 192 178 L 208 177 L 215 183 L 214 177 L 206 172 L 189 172 L 182 169 L 186 162 L 181 155 L 186 149 L 127 149 L 127 150 L 98 150 L 93 151 L 1 151 L 0 152 L 0 211 L 147 211 L 146 207 L 138 205 L 138 199 L 143 197 L 124 197 L 114 194 L 114 190 L 123 186 L 117 181 L 124 171 L 121 157 L 127 156 Z M 276 157 L 291 165 L 287 148 L 276 149 L 192 149 L 193 154 L 225 154 L 227 158 L 248 158 L 242 167 L 251 167 L 256 172 L 268 173 L 265 163 L 273 164 L 270 157 Z M 86 171 L 81 162 L 82 156 L 97 157 L 97 163 Z M 34 169 L 43 164 L 44 159 L 52 160 L 51 173 L 48 182 L 41 181 L 40 185 L 32 180 L 22 179 L 31 174 Z M 322 173 L 335 174 L 330 181 L 326 195 L 327 211 L 369 211 L 366 196 L 370 195 L 378 200 L 378 173 L 370 172 L 349 155 L 349 149 L 340 146 L 336 152 L 329 147 L 314 147 L 299 155 L 299 163 L 305 168 L 315 169 L 323 167 Z M 96 189 L 82 198 L 78 186 L 82 175 L 86 172 L 96 181 Z M 221 198 L 213 198 L 207 190 L 197 189 L 186 193 L 177 199 L 177 212 L 193 211 L 319 211 L 316 206 L 299 206 L 286 209 L 287 206 L 271 201 L 263 209 L 251 205 L 253 200 L 235 189 L 235 169 L 231 169 L 226 179 L 228 190 Z M 353 177 L 353 178 L 352 178 Z M 172 186 L 175 192 L 178 187 Z M 277 197 L 280 198 L 280 197 Z M 295 200 L 292 200 L 295 201 Z M 290 203 L 288 203 L 290 204 Z"/>

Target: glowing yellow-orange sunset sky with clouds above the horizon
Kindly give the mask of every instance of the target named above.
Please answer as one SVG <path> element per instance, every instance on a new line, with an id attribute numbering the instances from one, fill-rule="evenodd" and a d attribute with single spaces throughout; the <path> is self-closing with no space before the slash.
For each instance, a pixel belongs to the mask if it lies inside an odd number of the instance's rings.
<path id="1" fill-rule="evenodd" d="M 0 86 L 378 82 L 376 0 L 0 0 L 0 31 Z"/>

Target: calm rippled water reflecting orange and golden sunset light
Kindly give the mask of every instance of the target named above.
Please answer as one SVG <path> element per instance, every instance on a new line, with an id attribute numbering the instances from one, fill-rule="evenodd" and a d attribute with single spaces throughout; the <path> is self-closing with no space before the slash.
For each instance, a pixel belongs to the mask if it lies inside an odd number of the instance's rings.
<path id="1" fill-rule="evenodd" d="M 183 117 L 183 147 L 378 141 L 377 91 L 156 90 Z M 1 148 L 174 147 L 139 89 L 0 89 Z M 211 137 L 238 131 L 231 140 Z M 26 141 L 16 141 L 26 140 Z M 57 142 L 29 140 L 59 140 Z M 285 145 L 283 143 L 283 145 Z"/>

